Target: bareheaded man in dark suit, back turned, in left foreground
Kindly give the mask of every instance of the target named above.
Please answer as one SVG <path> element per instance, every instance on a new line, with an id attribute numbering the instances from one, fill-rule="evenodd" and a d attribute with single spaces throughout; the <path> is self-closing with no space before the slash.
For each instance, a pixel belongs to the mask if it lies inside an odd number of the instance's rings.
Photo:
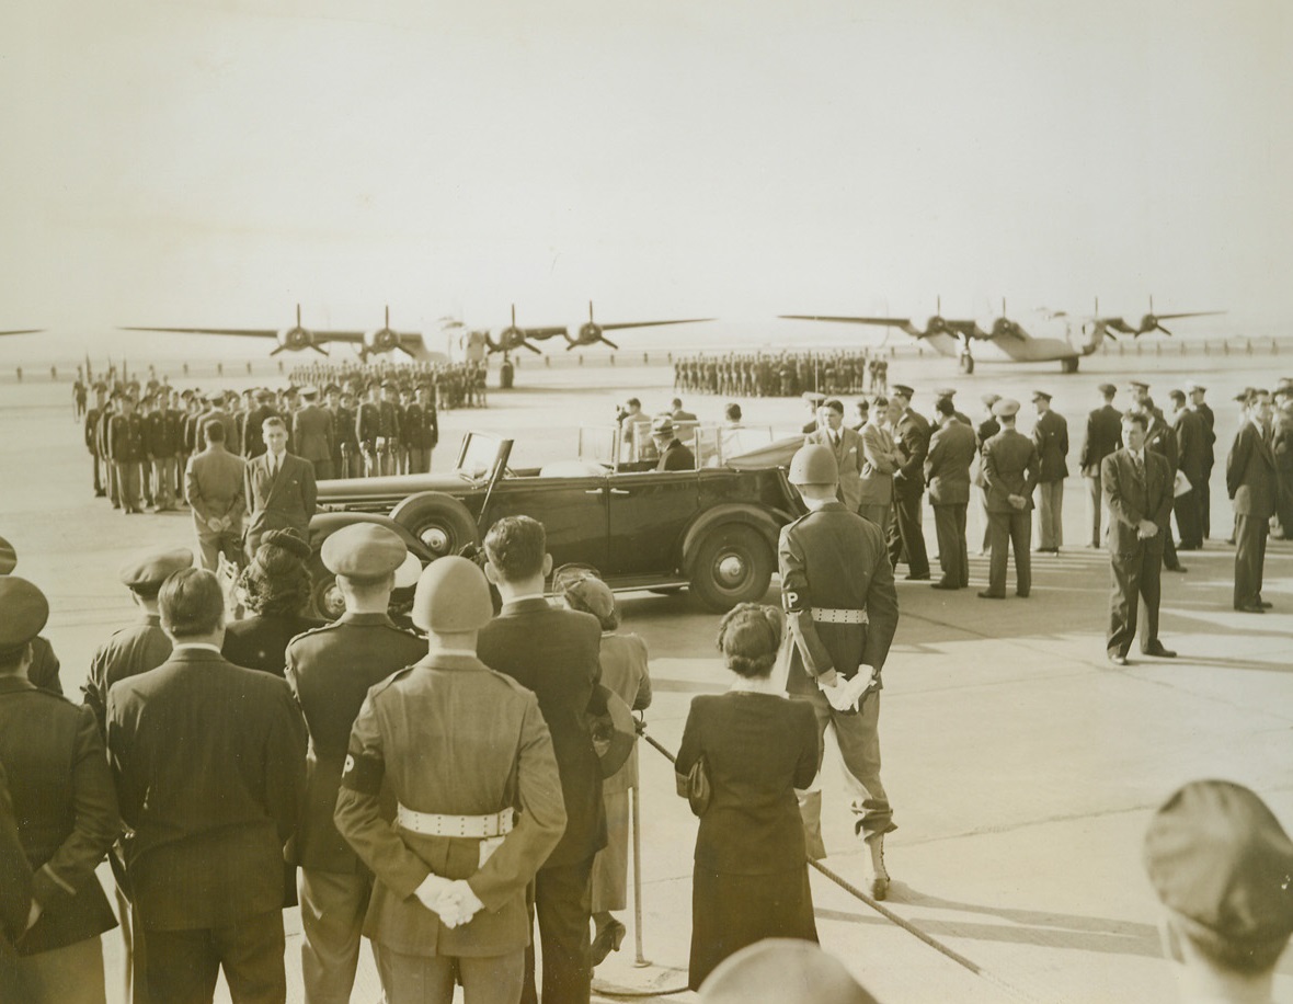
<path id="1" fill-rule="evenodd" d="M 305 789 L 305 722 L 287 684 L 220 655 L 215 574 L 176 572 L 158 596 L 175 651 L 107 696 L 107 750 L 127 873 L 155 1001 L 282 1001 L 283 844 Z"/>

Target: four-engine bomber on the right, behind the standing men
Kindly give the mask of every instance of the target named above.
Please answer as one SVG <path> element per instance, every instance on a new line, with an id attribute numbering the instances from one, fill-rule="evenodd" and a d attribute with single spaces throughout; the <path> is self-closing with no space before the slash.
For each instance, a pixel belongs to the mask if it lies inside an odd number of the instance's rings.
<path id="1" fill-rule="evenodd" d="M 908 317 L 826 317 L 821 314 L 781 314 L 796 321 L 834 321 L 851 325 L 875 325 L 899 327 L 928 345 L 943 356 L 956 358 L 962 373 L 974 373 L 974 342 L 990 342 L 1016 362 L 1059 362 L 1063 373 L 1077 373 L 1078 361 L 1095 352 L 1106 338 L 1116 340 L 1115 333 L 1129 334 L 1133 338 L 1162 331 L 1170 335 L 1162 321 L 1179 317 L 1209 317 L 1223 311 L 1196 311 L 1192 313 L 1155 314 L 1153 299 L 1149 300 L 1149 313 L 1140 318 L 1137 326 L 1129 325 L 1122 317 L 1102 317 L 1099 300 L 1091 317 L 1071 317 L 1064 311 L 1040 311 L 1038 318 L 1031 322 L 1032 331 L 1019 321 L 1006 314 L 1006 301 L 1001 301 L 1001 317 L 985 330 L 978 321 L 958 321 L 943 317 L 943 303 L 939 300 L 939 313 L 924 325 L 917 327 Z M 1038 334 L 1043 333 L 1043 334 Z"/>

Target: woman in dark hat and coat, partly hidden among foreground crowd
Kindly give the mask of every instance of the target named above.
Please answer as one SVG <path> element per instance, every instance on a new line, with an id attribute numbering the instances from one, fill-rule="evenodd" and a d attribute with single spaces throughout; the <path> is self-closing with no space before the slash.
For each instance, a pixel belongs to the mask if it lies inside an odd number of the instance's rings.
<path id="1" fill-rule="evenodd" d="M 287 643 L 323 621 L 305 617 L 310 598 L 310 573 L 305 563 L 310 546 L 295 530 L 270 530 L 260 538 L 251 562 L 238 576 L 251 617 L 225 628 L 221 655 L 234 665 L 282 677 Z"/>

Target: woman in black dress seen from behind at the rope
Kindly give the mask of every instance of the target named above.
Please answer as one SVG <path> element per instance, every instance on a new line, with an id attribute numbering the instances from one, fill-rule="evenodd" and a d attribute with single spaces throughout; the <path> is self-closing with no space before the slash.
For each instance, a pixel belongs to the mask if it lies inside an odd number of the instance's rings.
<path id="1" fill-rule="evenodd" d="M 718 647 L 736 681 L 694 697 L 683 730 L 678 771 L 703 761 L 711 789 L 692 873 L 692 990 L 747 944 L 817 941 L 795 789 L 812 784 L 821 754 L 812 706 L 773 679 L 784 630 L 776 607 L 729 611 Z"/>

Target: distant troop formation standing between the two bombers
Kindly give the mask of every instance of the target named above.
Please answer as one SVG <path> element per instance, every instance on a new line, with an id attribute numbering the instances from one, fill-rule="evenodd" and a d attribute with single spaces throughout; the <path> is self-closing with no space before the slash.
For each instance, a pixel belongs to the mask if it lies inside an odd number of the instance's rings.
<path id="1" fill-rule="evenodd" d="M 674 389 L 741 397 L 886 393 L 888 360 L 870 349 L 684 357 L 674 362 Z"/>

